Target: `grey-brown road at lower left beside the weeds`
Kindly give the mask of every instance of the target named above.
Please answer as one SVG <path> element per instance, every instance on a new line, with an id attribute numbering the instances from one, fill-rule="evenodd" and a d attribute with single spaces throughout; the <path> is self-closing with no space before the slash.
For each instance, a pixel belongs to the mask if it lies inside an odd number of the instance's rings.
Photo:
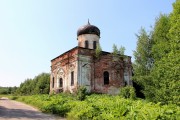
<path id="1" fill-rule="evenodd" d="M 0 120 L 63 120 L 7 98 L 0 98 Z"/>

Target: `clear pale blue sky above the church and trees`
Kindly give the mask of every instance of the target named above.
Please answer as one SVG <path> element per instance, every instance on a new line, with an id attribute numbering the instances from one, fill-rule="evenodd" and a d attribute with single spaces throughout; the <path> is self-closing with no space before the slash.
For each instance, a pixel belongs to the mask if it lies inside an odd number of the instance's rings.
<path id="1" fill-rule="evenodd" d="M 51 60 L 78 45 L 77 30 L 101 31 L 103 51 L 113 44 L 132 56 L 141 27 L 148 31 L 175 0 L 0 0 L 0 86 L 19 86 L 50 73 Z"/>

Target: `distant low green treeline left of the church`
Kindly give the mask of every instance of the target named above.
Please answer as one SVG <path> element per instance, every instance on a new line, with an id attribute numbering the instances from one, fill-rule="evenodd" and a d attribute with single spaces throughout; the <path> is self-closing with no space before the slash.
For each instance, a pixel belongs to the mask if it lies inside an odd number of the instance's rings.
<path id="1" fill-rule="evenodd" d="M 19 87 L 0 87 L 0 94 L 34 95 L 49 94 L 50 74 L 41 73 L 33 79 L 26 79 Z"/>

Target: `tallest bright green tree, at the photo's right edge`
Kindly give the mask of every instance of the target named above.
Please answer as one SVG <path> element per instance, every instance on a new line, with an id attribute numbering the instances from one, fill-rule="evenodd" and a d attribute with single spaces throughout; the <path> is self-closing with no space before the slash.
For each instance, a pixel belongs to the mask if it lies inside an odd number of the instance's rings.
<path id="1" fill-rule="evenodd" d="M 163 47 L 158 51 L 160 59 L 155 59 L 155 65 L 151 72 L 151 83 L 146 90 L 149 99 L 163 104 L 175 103 L 180 105 L 180 1 L 173 4 L 173 12 L 170 14 L 169 23 L 163 25 L 167 29 L 164 35 L 166 40 L 163 46 L 157 42 L 157 46 Z M 164 18 L 163 18 L 164 19 Z M 168 27 L 168 28 L 165 28 Z M 161 28 L 163 29 L 163 28 Z M 162 38 L 162 39 L 163 39 Z M 161 49 L 158 47 L 158 49 Z M 157 54 L 157 53 L 154 53 Z M 159 56 L 158 56 L 159 57 Z M 152 90 L 150 96 L 148 91 Z"/>

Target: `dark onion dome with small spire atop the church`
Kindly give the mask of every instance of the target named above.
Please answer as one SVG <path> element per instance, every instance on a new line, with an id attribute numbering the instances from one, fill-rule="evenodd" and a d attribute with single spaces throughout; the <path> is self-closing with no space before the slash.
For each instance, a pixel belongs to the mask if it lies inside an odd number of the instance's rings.
<path id="1" fill-rule="evenodd" d="M 88 21 L 87 25 L 80 27 L 77 31 L 77 36 L 82 34 L 95 34 L 100 37 L 100 30 L 98 27 L 91 25 Z"/>

